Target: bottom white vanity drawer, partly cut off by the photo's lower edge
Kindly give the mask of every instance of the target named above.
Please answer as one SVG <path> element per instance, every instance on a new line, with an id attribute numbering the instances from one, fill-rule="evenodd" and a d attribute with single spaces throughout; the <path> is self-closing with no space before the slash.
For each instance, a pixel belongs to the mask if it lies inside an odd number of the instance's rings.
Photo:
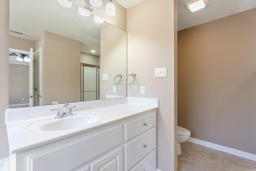
<path id="1" fill-rule="evenodd" d="M 156 149 L 151 151 L 138 164 L 136 164 L 130 171 L 155 171 L 156 170 Z"/>

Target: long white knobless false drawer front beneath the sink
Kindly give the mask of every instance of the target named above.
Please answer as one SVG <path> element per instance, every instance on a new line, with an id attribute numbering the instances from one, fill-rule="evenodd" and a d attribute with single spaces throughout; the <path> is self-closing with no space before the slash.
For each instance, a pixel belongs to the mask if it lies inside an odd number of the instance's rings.
<path id="1" fill-rule="evenodd" d="M 29 171 L 64 171 L 122 144 L 122 124 L 116 125 L 35 155 L 29 155 Z M 61 161 L 61 163 L 56 163 Z M 86 170 L 86 169 L 85 169 Z"/>

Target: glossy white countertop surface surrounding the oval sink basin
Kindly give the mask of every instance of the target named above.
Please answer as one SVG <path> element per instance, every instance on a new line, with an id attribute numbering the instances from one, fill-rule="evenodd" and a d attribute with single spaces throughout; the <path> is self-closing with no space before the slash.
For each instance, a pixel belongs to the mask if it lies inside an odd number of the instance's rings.
<path id="1" fill-rule="evenodd" d="M 138 98 L 142 99 L 142 98 Z M 157 99 L 156 99 L 157 100 Z M 114 123 L 121 119 L 126 119 L 132 117 L 141 112 L 149 111 L 158 108 L 158 100 L 156 105 L 145 105 L 138 104 L 138 101 L 127 100 L 127 103 L 119 105 L 110 105 L 106 107 L 99 107 L 95 109 L 87 109 L 82 111 L 74 111 L 74 115 L 79 115 L 80 112 L 101 112 L 104 113 L 104 117 L 91 125 L 85 125 L 82 127 L 65 129 L 60 131 L 31 131 L 27 129 L 27 126 L 40 121 L 42 119 L 54 118 L 54 115 L 46 115 L 44 117 L 36 117 L 32 119 L 21 119 L 19 121 L 8 121 L 6 122 L 8 141 L 10 154 L 24 151 L 32 147 L 37 147 L 45 143 L 53 142 L 70 135 L 75 135 L 77 133 L 82 133 L 94 129 L 96 127 L 101 127 L 109 123 Z M 9 109 L 10 110 L 10 109 Z M 7 112 L 8 113 L 8 112 Z M 7 115 L 7 114 L 6 114 Z M 72 117 L 72 116 L 70 116 Z"/>

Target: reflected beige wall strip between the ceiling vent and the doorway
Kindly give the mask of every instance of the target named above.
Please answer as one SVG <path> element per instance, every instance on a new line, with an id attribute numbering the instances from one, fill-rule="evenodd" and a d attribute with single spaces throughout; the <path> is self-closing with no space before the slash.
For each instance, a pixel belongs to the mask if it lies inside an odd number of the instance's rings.
<path id="1" fill-rule="evenodd" d="M 30 48 L 33 48 L 33 52 L 36 52 L 36 41 L 10 36 L 10 48 L 28 52 L 30 51 Z"/>

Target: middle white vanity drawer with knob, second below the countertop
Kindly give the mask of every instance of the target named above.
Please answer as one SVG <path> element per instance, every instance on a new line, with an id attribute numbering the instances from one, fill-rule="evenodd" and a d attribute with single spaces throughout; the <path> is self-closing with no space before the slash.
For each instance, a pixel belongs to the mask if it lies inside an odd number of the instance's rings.
<path id="1" fill-rule="evenodd" d="M 128 171 L 156 148 L 156 127 L 124 144 L 124 170 Z"/>

